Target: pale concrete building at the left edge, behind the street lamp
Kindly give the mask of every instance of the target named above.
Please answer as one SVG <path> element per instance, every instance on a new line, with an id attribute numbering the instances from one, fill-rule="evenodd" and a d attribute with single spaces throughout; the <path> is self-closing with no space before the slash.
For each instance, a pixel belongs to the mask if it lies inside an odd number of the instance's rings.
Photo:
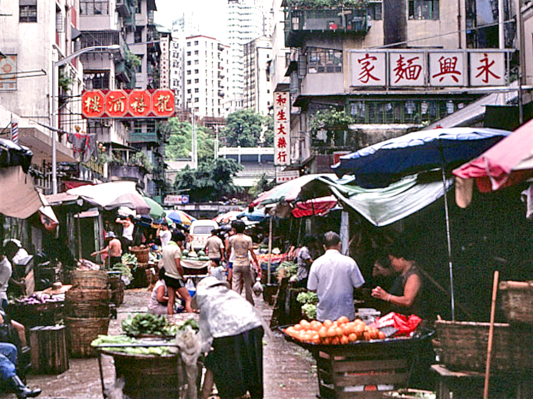
<path id="1" fill-rule="evenodd" d="M 77 0 L 27 0 L 0 3 L 0 124 L 8 135 L 18 122 L 19 143 L 29 147 L 36 186 L 51 191 L 52 130 L 85 129 L 79 119 L 83 66 L 74 59 L 62 68 L 54 62 L 80 49 Z M 31 38 L 31 42 L 28 41 Z M 55 82 L 56 91 L 52 91 Z M 67 135 L 56 135 L 58 162 L 74 161 Z"/>

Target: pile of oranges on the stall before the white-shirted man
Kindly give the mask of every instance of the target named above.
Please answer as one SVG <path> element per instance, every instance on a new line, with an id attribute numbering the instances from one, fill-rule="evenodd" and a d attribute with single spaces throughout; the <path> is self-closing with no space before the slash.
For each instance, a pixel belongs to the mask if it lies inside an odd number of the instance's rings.
<path id="1" fill-rule="evenodd" d="M 370 328 L 359 319 L 351 322 L 346 316 L 341 316 L 334 322 L 324 320 L 323 323 L 317 320 L 301 320 L 300 323 L 287 327 L 284 332 L 298 341 L 323 345 L 348 344 L 361 339 L 385 339 L 385 333 Z"/>

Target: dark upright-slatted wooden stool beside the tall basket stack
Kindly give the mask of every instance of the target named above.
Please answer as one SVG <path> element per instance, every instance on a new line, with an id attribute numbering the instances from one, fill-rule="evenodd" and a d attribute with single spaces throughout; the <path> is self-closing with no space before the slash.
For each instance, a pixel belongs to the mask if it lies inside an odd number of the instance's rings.
<path id="1" fill-rule="evenodd" d="M 61 374 L 69 369 L 64 325 L 38 325 L 30 329 L 31 364 L 43 374 Z"/>

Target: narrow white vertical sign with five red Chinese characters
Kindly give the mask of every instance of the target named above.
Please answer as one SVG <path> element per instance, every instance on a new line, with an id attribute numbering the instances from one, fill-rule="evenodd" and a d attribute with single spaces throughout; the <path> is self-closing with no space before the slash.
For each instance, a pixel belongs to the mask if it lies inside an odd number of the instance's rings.
<path id="1" fill-rule="evenodd" d="M 274 165 L 290 165 L 290 97 L 274 92 Z"/>

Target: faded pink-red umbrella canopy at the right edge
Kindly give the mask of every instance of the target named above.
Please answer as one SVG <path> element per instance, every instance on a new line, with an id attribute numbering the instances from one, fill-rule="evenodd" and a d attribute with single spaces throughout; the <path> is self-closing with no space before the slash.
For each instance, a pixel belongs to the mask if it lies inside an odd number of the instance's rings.
<path id="1" fill-rule="evenodd" d="M 473 161 L 454 170 L 457 177 L 475 178 L 483 193 L 512 186 L 533 175 L 533 119 L 520 126 Z"/>

